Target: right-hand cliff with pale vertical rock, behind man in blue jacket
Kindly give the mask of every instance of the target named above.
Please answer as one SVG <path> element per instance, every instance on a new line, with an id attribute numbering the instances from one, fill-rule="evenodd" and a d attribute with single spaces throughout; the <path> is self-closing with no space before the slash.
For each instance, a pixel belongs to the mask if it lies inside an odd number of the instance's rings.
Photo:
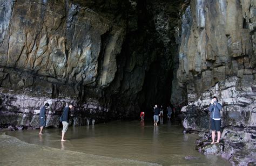
<path id="1" fill-rule="evenodd" d="M 179 30 L 172 102 L 188 104 L 181 110 L 185 128 L 207 131 L 207 107 L 217 96 L 223 105 L 224 143 L 219 152 L 204 151 L 235 165 L 253 163 L 256 156 L 255 5 L 244 0 L 191 1 Z"/>

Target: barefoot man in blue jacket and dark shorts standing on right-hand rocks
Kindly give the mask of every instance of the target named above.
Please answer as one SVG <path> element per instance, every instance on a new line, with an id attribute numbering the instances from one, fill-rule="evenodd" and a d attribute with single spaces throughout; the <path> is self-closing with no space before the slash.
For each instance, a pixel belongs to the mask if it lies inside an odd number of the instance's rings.
<path id="1" fill-rule="evenodd" d="M 222 105 L 218 103 L 217 97 L 213 97 L 211 104 L 209 106 L 209 111 L 211 112 L 211 130 L 212 130 L 212 144 L 219 143 L 220 141 L 220 110 Z M 215 131 L 217 131 L 218 137 L 217 141 L 215 140 Z"/>

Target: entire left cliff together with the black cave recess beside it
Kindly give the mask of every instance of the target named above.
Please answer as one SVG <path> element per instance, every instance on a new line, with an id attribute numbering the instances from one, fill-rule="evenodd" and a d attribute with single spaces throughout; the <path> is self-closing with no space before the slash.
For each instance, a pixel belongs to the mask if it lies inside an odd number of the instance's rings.
<path id="1" fill-rule="evenodd" d="M 168 103 L 182 3 L 0 1 L 2 126 L 38 127 L 46 102 L 49 127 L 69 102 L 80 125 Z"/>

